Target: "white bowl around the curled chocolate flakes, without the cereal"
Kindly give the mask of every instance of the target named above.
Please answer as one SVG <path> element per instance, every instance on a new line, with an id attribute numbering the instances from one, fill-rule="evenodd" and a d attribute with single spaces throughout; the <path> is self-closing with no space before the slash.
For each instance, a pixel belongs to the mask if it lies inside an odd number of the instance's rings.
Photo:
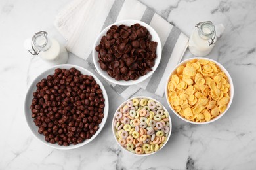
<path id="1" fill-rule="evenodd" d="M 152 35 L 152 41 L 156 41 L 158 42 L 158 46 L 156 48 L 156 60 L 155 60 L 155 65 L 154 67 L 152 67 L 152 71 L 148 72 L 146 75 L 144 76 L 140 76 L 137 80 L 129 80 L 129 81 L 125 81 L 125 80 L 120 80 L 117 81 L 115 80 L 115 78 L 112 78 L 108 75 L 108 73 L 104 70 L 102 70 L 100 68 L 100 64 L 98 63 L 98 52 L 96 52 L 95 47 L 98 46 L 98 44 L 100 44 L 100 39 L 102 38 L 102 36 L 106 35 L 106 32 L 108 31 L 108 29 L 110 29 L 110 27 L 112 25 L 127 25 L 127 26 L 131 26 L 133 24 L 139 23 L 140 25 L 146 27 L 146 29 L 148 29 L 148 31 L 150 32 L 150 34 Z M 161 41 L 160 38 L 158 37 L 158 33 L 156 33 L 156 31 L 148 24 L 141 22 L 139 20 L 122 20 L 119 22 L 115 22 L 114 24 L 109 25 L 108 27 L 106 27 L 105 29 L 103 29 L 103 31 L 98 35 L 98 37 L 96 38 L 96 41 L 93 45 L 93 63 L 98 71 L 98 73 L 100 73 L 101 76 L 103 76 L 106 80 L 114 83 L 114 84 L 119 84 L 119 85 L 123 85 L 123 86 L 130 86 L 133 84 L 138 84 L 139 82 L 142 82 L 144 80 L 146 80 L 146 78 L 150 77 L 154 71 L 156 71 L 159 63 L 161 60 Z"/>

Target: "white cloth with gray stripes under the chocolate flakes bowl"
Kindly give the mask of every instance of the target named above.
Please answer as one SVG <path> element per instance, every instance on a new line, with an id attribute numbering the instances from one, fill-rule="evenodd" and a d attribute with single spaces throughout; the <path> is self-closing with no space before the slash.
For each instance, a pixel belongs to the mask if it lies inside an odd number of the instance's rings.
<path id="1" fill-rule="evenodd" d="M 188 37 L 154 10 L 137 0 L 74 0 L 56 16 L 55 26 L 67 40 L 68 51 L 94 67 L 92 49 L 100 31 L 127 19 L 141 20 L 156 30 L 163 48 L 161 61 L 154 74 L 144 82 L 133 86 L 109 84 L 125 99 L 140 88 L 163 97 L 167 77 L 181 61 L 188 47 Z"/>

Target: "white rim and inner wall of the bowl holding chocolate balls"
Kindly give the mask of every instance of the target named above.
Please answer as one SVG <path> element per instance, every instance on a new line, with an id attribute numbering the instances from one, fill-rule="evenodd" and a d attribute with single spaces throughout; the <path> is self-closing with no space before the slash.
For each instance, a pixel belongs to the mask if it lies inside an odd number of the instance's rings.
<path id="1" fill-rule="evenodd" d="M 76 144 L 76 145 L 73 145 L 73 144 L 72 144 L 72 145 L 69 145 L 69 146 L 60 146 L 60 145 L 58 145 L 57 143 L 51 144 L 51 143 L 48 143 L 48 142 L 46 142 L 46 141 L 44 141 L 44 140 L 41 140 L 39 137 L 37 137 L 37 135 L 34 133 L 34 131 L 32 131 L 32 127 L 30 127 L 29 118 L 31 118 L 31 116 L 30 116 L 31 112 L 29 112 L 29 113 L 26 112 L 26 109 L 29 109 L 30 103 L 28 103 L 28 99 L 29 99 L 30 97 L 33 98 L 33 95 L 30 96 L 30 95 L 31 95 L 30 90 L 32 91 L 33 86 L 34 86 L 35 83 L 38 81 L 37 79 L 38 79 L 39 77 L 41 77 L 41 76 L 45 77 L 45 76 L 49 75 L 49 73 L 47 73 L 47 72 L 50 71 L 50 70 L 53 70 L 53 73 L 54 73 L 54 69 L 56 69 L 56 68 L 61 68 L 61 69 L 64 68 L 64 69 L 67 69 L 66 67 L 69 67 L 69 68 L 75 67 L 75 69 L 77 69 L 77 70 L 79 70 L 79 71 L 81 71 L 81 72 L 82 72 L 82 71 L 87 72 L 87 73 L 85 73 L 85 74 L 93 76 L 93 78 L 95 78 L 97 84 L 100 85 L 100 88 L 102 89 L 102 93 L 104 94 L 104 99 L 105 99 L 104 118 L 103 118 L 104 121 L 102 121 L 102 122 L 100 123 L 101 127 L 98 129 L 98 131 L 96 131 L 95 135 L 93 135 L 93 136 L 91 137 L 91 139 L 86 139 L 86 140 L 83 141 L 83 143 L 81 143 L 81 144 Z M 39 79 L 41 79 L 41 78 L 39 78 Z M 32 91 L 32 92 L 33 92 L 33 91 Z M 30 83 L 30 85 L 28 86 L 28 88 L 27 88 L 27 90 L 26 90 L 26 95 L 25 95 L 25 97 L 24 97 L 24 116 L 25 116 L 25 119 L 26 119 L 26 125 L 28 126 L 28 128 L 29 128 L 30 131 L 31 131 L 31 133 L 33 134 L 33 136 L 34 136 L 38 141 L 40 141 L 41 143 L 45 144 L 46 146 L 49 146 L 49 147 L 54 148 L 54 149 L 57 149 L 57 150 L 72 150 L 72 149 L 75 149 L 75 148 L 80 148 L 81 146 L 84 146 L 85 144 L 91 143 L 91 141 L 93 141 L 93 140 L 100 134 L 100 132 L 102 131 L 102 129 L 104 128 L 104 125 L 106 124 L 106 120 L 108 119 L 108 110 L 109 110 L 108 93 L 106 93 L 106 90 L 105 90 L 105 88 L 104 88 L 104 85 L 103 85 L 102 82 L 99 80 L 99 78 L 98 78 L 95 74 L 91 73 L 91 71 L 89 71 L 89 70 L 87 70 L 87 69 L 85 69 L 85 68 L 83 68 L 83 67 L 80 67 L 80 66 L 78 66 L 78 65 L 73 65 L 73 64 L 54 65 L 53 67 L 50 67 L 50 68 L 48 68 L 48 69 L 45 69 L 42 73 L 40 73 L 39 75 L 37 75 L 37 76 L 32 80 L 32 82 Z M 26 116 L 26 114 L 29 114 L 29 115 Z M 103 120 L 103 119 L 102 119 L 102 120 Z M 35 124 L 32 124 L 32 126 L 35 126 Z M 35 126 L 35 127 L 37 127 L 37 126 Z M 39 133 L 38 133 L 38 135 L 42 135 L 42 134 L 39 134 Z"/>

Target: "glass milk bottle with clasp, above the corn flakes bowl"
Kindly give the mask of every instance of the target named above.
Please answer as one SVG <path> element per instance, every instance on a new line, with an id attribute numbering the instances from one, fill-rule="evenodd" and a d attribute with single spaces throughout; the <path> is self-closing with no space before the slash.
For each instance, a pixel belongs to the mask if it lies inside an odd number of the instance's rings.
<path id="1" fill-rule="evenodd" d="M 196 24 L 196 28 L 188 41 L 188 48 L 194 56 L 207 56 L 217 41 L 215 26 L 212 22 L 200 22 Z"/>

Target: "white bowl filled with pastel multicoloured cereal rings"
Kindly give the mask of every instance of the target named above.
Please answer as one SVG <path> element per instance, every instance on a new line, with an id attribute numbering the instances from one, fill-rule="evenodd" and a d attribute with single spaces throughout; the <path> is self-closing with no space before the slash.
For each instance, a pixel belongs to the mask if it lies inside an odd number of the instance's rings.
<path id="1" fill-rule="evenodd" d="M 161 150 L 171 136 L 171 117 L 156 99 L 133 97 L 123 102 L 112 122 L 116 142 L 131 154 L 147 156 Z"/>

